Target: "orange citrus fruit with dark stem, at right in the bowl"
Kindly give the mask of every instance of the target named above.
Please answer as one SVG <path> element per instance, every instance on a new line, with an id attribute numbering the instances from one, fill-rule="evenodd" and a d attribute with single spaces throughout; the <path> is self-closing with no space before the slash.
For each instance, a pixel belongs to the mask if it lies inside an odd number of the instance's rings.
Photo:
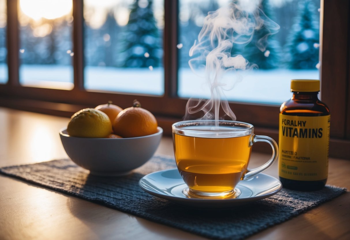
<path id="1" fill-rule="evenodd" d="M 113 122 L 114 134 L 122 137 L 140 137 L 156 133 L 157 120 L 138 101 L 121 111 Z"/>

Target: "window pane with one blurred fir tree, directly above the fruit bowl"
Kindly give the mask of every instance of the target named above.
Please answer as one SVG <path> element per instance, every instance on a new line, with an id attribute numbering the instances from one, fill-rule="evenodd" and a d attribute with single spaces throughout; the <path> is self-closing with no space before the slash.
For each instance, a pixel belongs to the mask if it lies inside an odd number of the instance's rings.
<path id="1" fill-rule="evenodd" d="M 84 22 L 85 89 L 164 93 L 163 0 L 85 0 Z"/>

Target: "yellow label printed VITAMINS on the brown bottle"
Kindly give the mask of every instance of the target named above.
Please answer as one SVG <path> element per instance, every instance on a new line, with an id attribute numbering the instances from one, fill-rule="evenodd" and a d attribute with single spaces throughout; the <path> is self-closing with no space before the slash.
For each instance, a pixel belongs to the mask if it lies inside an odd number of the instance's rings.
<path id="1" fill-rule="evenodd" d="M 280 114 L 279 176 L 299 181 L 328 177 L 330 115 L 298 117 Z"/>

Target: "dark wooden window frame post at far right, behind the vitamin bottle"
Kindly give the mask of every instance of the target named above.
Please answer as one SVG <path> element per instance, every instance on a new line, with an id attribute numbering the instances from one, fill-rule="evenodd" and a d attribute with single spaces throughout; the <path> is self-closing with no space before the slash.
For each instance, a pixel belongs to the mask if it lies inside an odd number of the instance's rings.
<path id="1" fill-rule="evenodd" d="M 336 122 L 330 128 L 330 136 L 345 139 L 350 4 L 348 1 L 323 0 L 322 5 L 322 101 L 330 109 L 332 123 Z"/>

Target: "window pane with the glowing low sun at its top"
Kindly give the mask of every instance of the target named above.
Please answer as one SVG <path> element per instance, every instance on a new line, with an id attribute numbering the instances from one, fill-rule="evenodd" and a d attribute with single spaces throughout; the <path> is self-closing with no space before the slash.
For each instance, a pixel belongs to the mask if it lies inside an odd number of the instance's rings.
<path id="1" fill-rule="evenodd" d="M 72 89 L 72 1 L 21 0 L 18 21 L 20 84 Z"/>

